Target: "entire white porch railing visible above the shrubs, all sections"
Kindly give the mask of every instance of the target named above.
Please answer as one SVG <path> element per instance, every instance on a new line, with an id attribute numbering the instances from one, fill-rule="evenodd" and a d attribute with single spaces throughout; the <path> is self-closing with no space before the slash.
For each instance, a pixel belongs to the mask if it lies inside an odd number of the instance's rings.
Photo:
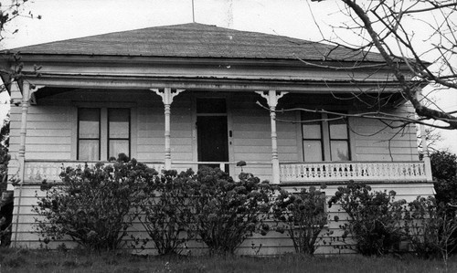
<path id="1" fill-rule="evenodd" d="M 108 163 L 108 162 L 106 162 Z M 165 169 L 163 162 L 145 162 L 149 167 L 160 172 Z M 43 180 L 59 182 L 62 168 L 84 165 L 81 161 L 27 160 L 25 164 L 25 184 L 41 184 Z M 88 162 L 89 165 L 95 162 Z M 185 171 L 197 170 L 198 165 L 217 164 L 222 170 L 232 170 L 236 176 L 241 171 L 250 172 L 250 168 L 270 167 L 271 162 L 247 162 L 237 166 L 232 162 L 172 162 L 172 169 Z M 241 169 L 242 168 L 242 169 Z M 423 162 L 321 162 L 321 163 L 280 163 L 280 184 L 337 184 L 349 180 L 363 182 L 425 182 L 427 181 Z"/>

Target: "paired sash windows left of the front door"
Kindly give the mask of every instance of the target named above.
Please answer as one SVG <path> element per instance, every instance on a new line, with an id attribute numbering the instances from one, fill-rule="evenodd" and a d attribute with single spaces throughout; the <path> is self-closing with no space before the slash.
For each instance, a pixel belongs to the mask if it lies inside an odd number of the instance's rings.
<path id="1" fill-rule="evenodd" d="M 130 156 L 130 109 L 78 109 L 78 160 L 99 161 Z"/>

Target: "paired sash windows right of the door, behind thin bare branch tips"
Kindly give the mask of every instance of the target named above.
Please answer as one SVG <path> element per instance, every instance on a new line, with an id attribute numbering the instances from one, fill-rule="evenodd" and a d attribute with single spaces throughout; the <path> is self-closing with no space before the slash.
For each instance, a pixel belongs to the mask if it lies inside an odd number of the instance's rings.
<path id="1" fill-rule="evenodd" d="M 339 116 L 302 113 L 303 161 L 350 161 L 347 121 Z"/>

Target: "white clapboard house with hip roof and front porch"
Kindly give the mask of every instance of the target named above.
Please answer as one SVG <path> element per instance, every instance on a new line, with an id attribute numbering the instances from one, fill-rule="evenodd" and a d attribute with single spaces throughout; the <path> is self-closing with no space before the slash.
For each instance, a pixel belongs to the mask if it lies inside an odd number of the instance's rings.
<path id="1" fill-rule="evenodd" d="M 409 200 L 433 194 L 415 126 L 399 131 L 354 116 L 274 111 L 409 115 L 377 54 L 197 23 L 12 51 L 25 74 L 9 87 L 9 173 L 21 179 L 9 185 L 18 246 L 38 246 L 31 205 L 43 179 L 58 181 L 62 164 L 119 152 L 158 170 L 211 164 L 234 177 L 245 161 L 244 172 L 289 189 L 325 183 L 328 196 L 351 179 Z M 1 65 L 15 66 L 11 54 Z M 241 253 L 250 253 L 252 240 Z M 279 234 L 257 240 L 263 254 L 292 251 Z"/>

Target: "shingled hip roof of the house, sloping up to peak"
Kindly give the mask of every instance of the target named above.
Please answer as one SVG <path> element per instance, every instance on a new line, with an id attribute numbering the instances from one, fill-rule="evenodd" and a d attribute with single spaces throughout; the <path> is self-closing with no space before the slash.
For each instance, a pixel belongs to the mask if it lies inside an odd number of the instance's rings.
<path id="1" fill-rule="evenodd" d="M 291 37 L 190 23 L 80 37 L 12 51 L 44 55 L 271 58 L 383 62 L 377 53 Z"/>

